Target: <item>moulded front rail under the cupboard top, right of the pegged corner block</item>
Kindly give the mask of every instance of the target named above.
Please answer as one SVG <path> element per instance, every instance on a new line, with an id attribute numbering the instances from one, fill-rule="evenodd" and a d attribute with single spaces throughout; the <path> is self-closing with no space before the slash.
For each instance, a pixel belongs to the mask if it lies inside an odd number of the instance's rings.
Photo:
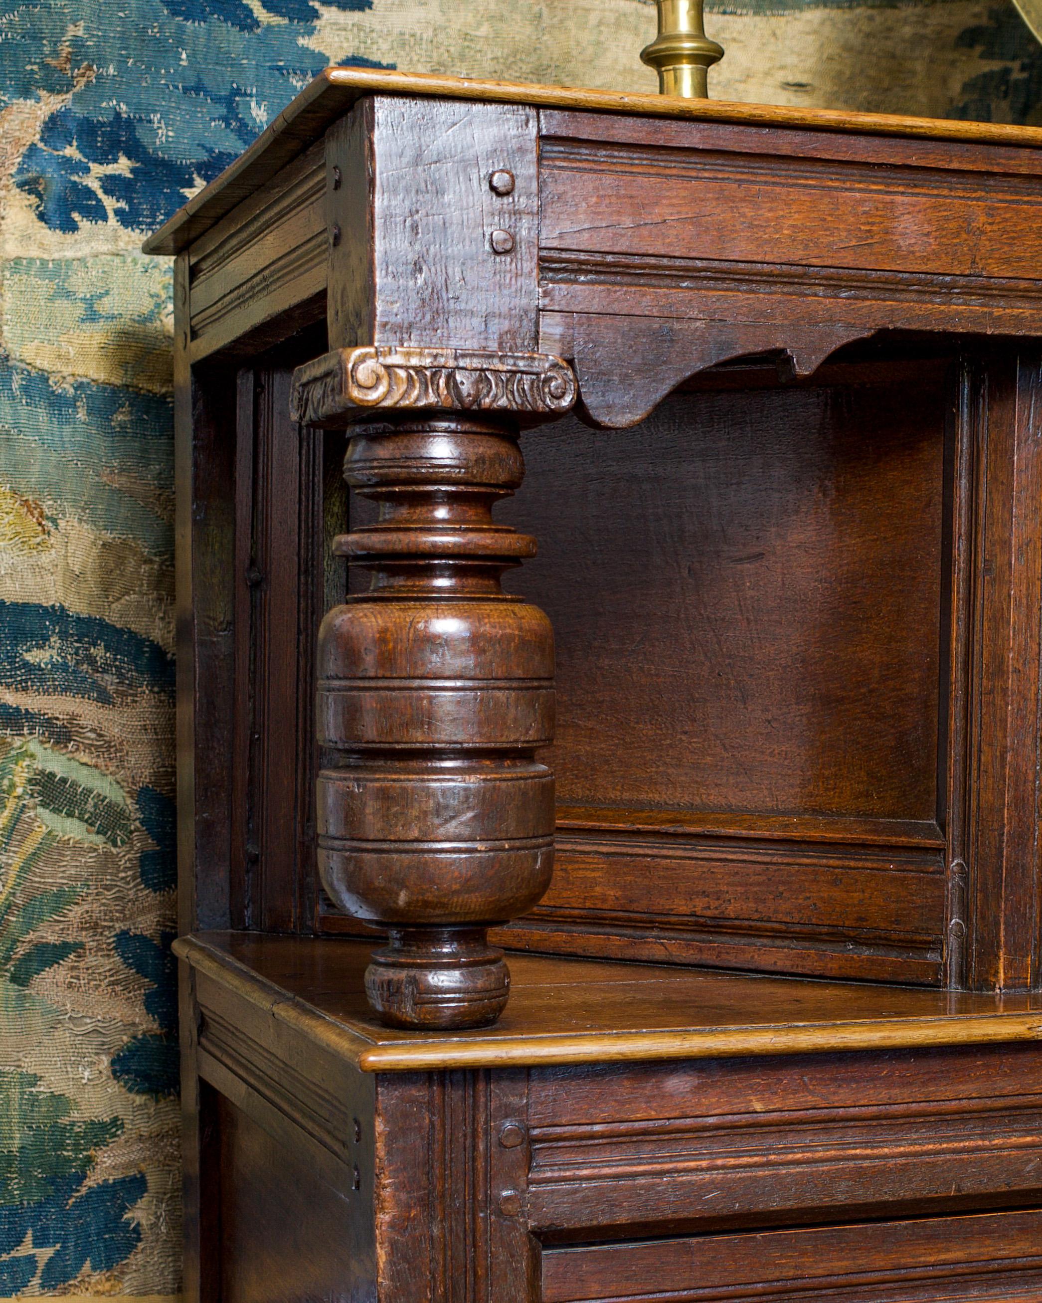
<path id="1" fill-rule="evenodd" d="M 972 278 L 1038 276 L 1037 176 L 714 150 L 688 129 L 641 139 L 556 119 L 544 136 L 539 242 L 740 263 Z M 600 138 L 598 138 L 600 137 Z M 663 147 L 669 139 L 672 147 Z M 824 151 L 823 151 L 824 152 Z M 895 160 L 896 162 L 896 160 Z"/>

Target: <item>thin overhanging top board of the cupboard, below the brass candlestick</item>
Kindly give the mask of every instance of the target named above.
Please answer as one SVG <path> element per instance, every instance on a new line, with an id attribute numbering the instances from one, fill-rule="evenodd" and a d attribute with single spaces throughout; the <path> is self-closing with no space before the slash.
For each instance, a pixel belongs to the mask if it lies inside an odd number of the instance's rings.
<path id="1" fill-rule="evenodd" d="M 636 57 L 636 55 L 634 55 Z M 952 119 L 901 117 L 887 113 L 847 113 L 823 108 L 775 104 L 735 104 L 716 99 L 677 99 L 610 90 L 538 86 L 419 73 L 327 68 L 262 132 L 262 134 L 203 190 L 180 208 L 145 244 L 145 253 L 180 253 L 219 222 L 247 194 L 270 180 L 301 150 L 363 95 L 434 95 L 479 99 L 542 108 L 593 109 L 645 117 L 673 117 L 754 126 L 856 132 L 913 139 L 970 141 L 986 145 L 1042 149 L 1042 128 L 1004 122 L 964 122 Z"/>

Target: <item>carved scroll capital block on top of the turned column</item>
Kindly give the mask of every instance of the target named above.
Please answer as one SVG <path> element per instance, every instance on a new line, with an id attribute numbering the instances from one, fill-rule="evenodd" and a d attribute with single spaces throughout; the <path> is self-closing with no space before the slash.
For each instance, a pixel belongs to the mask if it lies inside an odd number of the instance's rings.
<path id="1" fill-rule="evenodd" d="M 561 416 L 576 377 L 550 353 L 456 348 L 341 348 L 293 375 L 290 414 L 303 425 L 340 425 L 366 408 L 520 412 Z"/>

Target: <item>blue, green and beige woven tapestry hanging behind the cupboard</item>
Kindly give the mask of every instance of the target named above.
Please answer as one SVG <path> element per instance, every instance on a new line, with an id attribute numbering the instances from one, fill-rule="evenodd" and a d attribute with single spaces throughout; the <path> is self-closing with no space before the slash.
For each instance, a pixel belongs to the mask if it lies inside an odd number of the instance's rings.
<path id="1" fill-rule="evenodd" d="M 1042 121 L 1006 0 L 710 0 L 718 98 Z M 0 0 L 0 1296 L 178 1289 L 171 268 L 328 63 L 654 90 L 651 0 Z"/>

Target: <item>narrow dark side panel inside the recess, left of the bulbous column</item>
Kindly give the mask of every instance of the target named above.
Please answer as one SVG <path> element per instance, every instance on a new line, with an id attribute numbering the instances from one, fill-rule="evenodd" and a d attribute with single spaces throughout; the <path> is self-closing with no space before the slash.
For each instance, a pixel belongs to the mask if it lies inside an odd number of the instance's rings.
<path id="1" fill-rule="evenodd" d="M 227 559 L 234 674 L 211 684 L 234 719 L 223 775 L 231 788 L 231 921 L 287 932 L 313 926 L 314 645 L 326 585 L 343 584 L 343 567 L 327 559 L 343 512 L 343 440 L 301 430 L 289 417 L 289 377 L 301 348 L 310 352 L 306 336 L 284 344 L 288 365 L 259 362 L 238 373 L 228 483 L 234 546 Z"/>

